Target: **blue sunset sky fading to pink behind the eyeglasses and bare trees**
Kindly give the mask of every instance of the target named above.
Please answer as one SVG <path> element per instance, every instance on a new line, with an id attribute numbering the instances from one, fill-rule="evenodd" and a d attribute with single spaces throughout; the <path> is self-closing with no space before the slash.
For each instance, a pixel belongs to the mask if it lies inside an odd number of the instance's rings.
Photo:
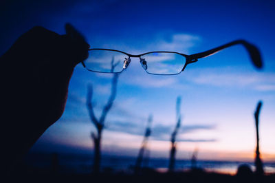
<path id="1" fill-rule="evenodd" d="M 261 150 L 265 160 L 274 160 L 274 8 L 274 1 L 12 1 L 1 6 L 0 54 L 34 25 L 64 34 L 67 22 L 83 32 L 91 47 L 130 54 L 193 54 L 245 39 L 261 50 L 263 70 L 252 66 L 240 45 L 201 58 L 176 76 L 146 74 L 133 58 L 120 75 L 102 148 L 107 154 L 136 155 L 148 115 L 153 114 L 152 156 L 168 157 L 176 98 L 181 96 L 178 158 L 190 158 L 198 148 L 199 158 L 251 160 L 253 113 L 263 100 Z M 91 153 L 94 127 L 85 105 L 87 85 L 94 85 L 98 115 L 109 96 L 111 77 L 77 65 L 63 117 L 33 150 Z"/>

